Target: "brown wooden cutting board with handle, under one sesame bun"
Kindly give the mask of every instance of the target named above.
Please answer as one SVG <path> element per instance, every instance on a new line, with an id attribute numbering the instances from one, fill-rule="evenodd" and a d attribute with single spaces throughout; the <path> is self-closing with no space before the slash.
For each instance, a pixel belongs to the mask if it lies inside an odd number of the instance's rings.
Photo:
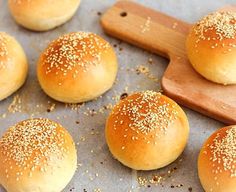
<path id="1" fill-rule="evenodd" d="M 236 6 L 227 6 L 235 10 Z M 194 71 L 185 51 L 191 24 L 132 1 L 118 1 L 101 18 L 105 32 L 170 59 L 161 85 L 178 103 L 226 124 L 236 124 L 236 86 L 210 82 Z"/>

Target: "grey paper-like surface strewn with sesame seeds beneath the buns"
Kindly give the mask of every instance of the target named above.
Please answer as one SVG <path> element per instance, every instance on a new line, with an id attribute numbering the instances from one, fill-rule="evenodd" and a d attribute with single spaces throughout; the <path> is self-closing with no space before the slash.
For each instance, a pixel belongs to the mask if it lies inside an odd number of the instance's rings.
<path id="1" fill-rule="evenodd" d="M 78 150 L 78 170 L 65 188 L 67 191 L 165 191 L 201 192 L 197 176 L 197 156 L 204 140 L 220 122 L 184 108 L 190 122 L 190 138 L 181 157 L 166 168 L 155 171 L 134 171 L 114 160 L 104 138 L 104 126 L 111 106 L 122 93 L 159 90 L 160 79 L 168 60 L 106 36 L 100 25 L 101 13 L 114 0 L 83 0 L 76 15 L 65 25 L 52 31 L 37 33 L 19 27 L 11 18 L 7 1 L 0 0 L 0 31 L 15 36 L 22 44 L 30 64 L 25 85 L 14 95 L 0 102 L 0 136 L 11 125 L 30 117 L 47 117 L 61 123 L 72 134 Z M 137 0 L 179 19 L 194 22 L 201 16 L 235 0 Z M 113 88 L 96 101 L 83 105 L 65 105 L 47 97 L 36 77 L 36 63 L 47 44 L 67 32 L 92 31 L 102 35 L 115 48 L 119 72 Z M 0 192 L 5 192 L 0 187 Z"/>

